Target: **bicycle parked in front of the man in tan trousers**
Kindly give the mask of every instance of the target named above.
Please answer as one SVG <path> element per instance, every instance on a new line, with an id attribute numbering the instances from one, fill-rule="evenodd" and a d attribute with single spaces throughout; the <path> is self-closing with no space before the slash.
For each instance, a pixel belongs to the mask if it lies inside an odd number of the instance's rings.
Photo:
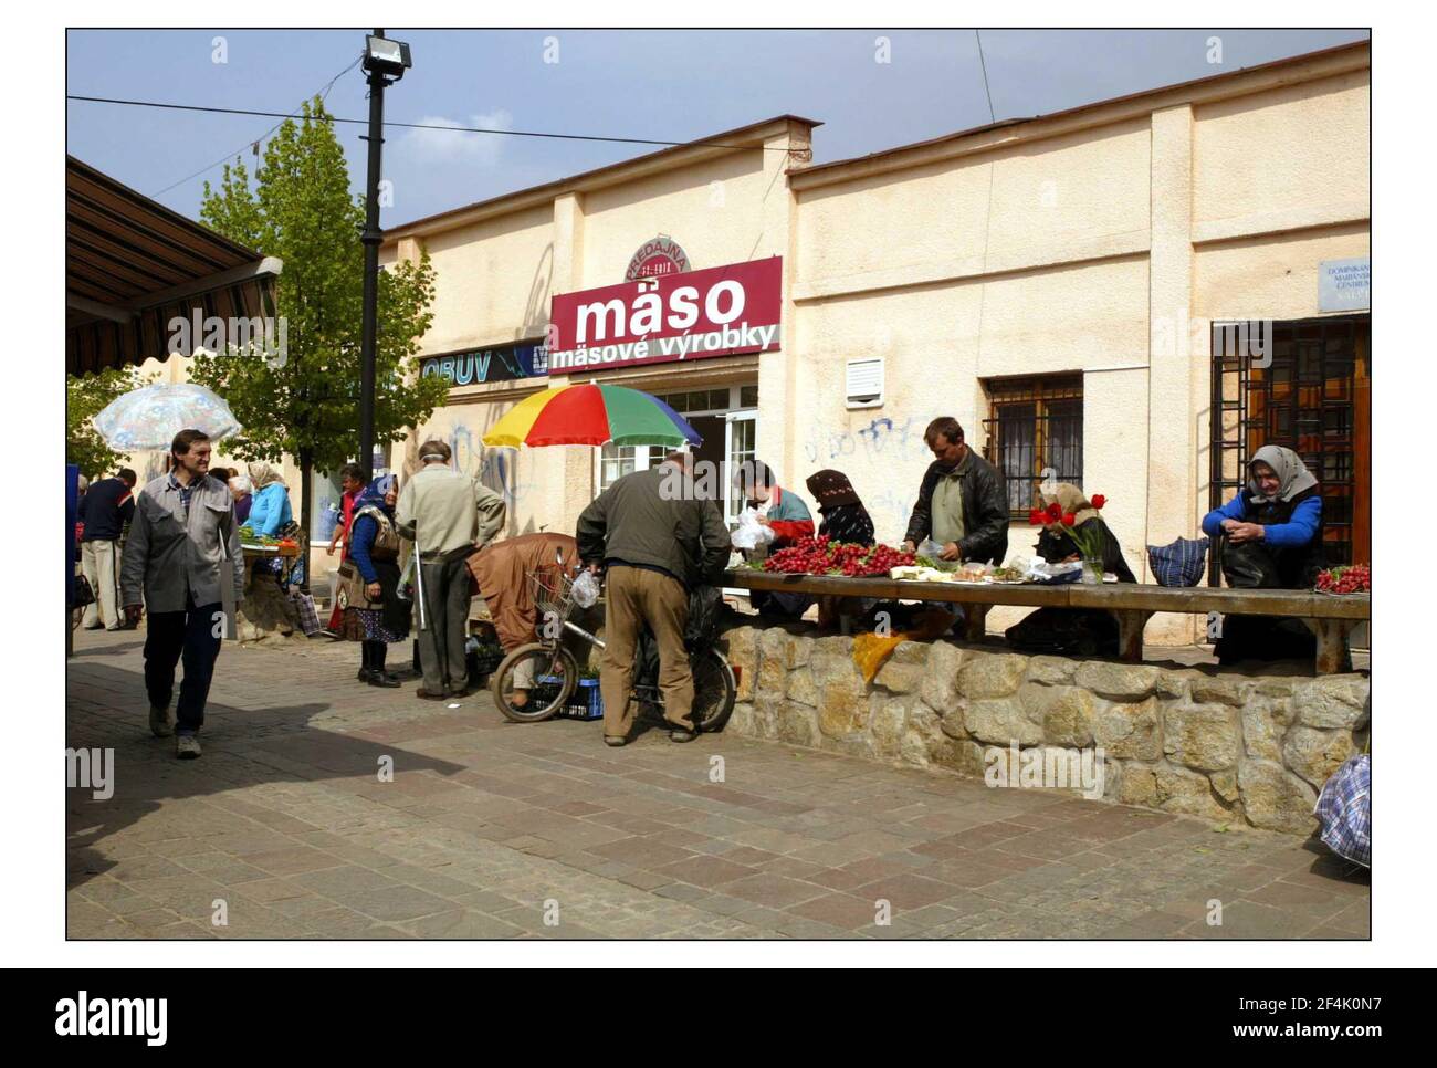
<path id="1" fill-rule="evenodd" d="M 569 618 L 573 612 L 575 575 L 565 574 L 562 562 L 553 568 L 526 572 L 526 576 L 539 608 L 540 640 L 520 645 L 504 657 L 490 681 L 490 693 L 507 719 L 514 723 L 539 723 L 563 709 L 579 683 L 578 661 L 565 648 L 563 638 L 575 635 L 601 650 L 605 645 L 602 638 Z M 694 674 L 694 726 L 700 732 L 721 730 L 739 696 L 733 668 L 723 653 L 713 647 L 691 653 L 688 666 Z M 514 699 L 520 691 L 525 700 L 516 704 Z M 635 684 L 632 696 L 639 703 L 641 714 L 662 719 L 664 699 L 657 684 Z"/>

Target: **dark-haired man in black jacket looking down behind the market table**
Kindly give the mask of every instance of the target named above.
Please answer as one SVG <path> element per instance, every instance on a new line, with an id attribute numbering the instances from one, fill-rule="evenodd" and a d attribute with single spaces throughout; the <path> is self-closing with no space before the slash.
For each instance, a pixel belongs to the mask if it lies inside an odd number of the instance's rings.
<path id="1" fill-rule="evenodd" d="M 963 443 L 951 415 L 928 424 L 923 440 L 934 460 L 918 487 L 904 549 L 933 538 L 946 561 L 992 561 L 1007 555 L 1007 486 L 1003 473 Z"/>

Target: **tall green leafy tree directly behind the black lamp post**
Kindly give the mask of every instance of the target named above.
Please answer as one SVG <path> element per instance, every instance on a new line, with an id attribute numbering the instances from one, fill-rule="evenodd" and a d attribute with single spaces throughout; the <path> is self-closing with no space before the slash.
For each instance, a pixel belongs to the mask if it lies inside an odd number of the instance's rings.
<path id="1" fill-rule="evenodd" d="M 333 471 L 359 448 L 359 339 L 364 308 L 364 200 L 349 194 L 349 170 L 323 102 L 306 103 L 264 151 L 251 187 L 243 164 L 226 165 L 220 188 L 204 185 L 200 217 L 218 233 L 279 256 L 276 315 L 283 358 L 256 346 L 201 352 L 191 381 L 224 397 L 244 427 L 224 451 L 244 460 L 287 453 L 303 474 L 300 522 L 310 516 L 310 473 Z M 444 402 L 448 382 L 421 378 L 415 354 L 433 319 L 434 269 L 418 263 L 379 272 L 375 344 L 375 444 L 398 441 Z M 368 457 L 358 457 L 368 464 Z"/>

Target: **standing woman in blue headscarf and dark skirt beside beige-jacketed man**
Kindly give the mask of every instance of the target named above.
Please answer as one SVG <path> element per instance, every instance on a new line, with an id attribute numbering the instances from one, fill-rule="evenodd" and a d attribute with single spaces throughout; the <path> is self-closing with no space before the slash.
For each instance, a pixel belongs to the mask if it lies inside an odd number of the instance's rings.
<path id="1" fill-rule="evenodd" d="M 355 499 L 338 595 L 343 608 L 339 637 L 361 643 L 359 681 L 391 689 L 399 680 L 384 666 L 389 643 L 404 641 L 410 634 L 410 602 L 398 597 L 399 532 L 394 526 L 398 499 L 399 480 L 392 474 L 375 479 Z"/>

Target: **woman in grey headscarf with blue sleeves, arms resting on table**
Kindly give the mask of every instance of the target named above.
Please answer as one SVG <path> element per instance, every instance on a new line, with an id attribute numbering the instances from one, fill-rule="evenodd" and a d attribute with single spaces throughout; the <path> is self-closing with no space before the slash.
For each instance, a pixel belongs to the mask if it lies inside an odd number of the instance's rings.
<path id="1" fill-rule="evenodd" d="M 1203 519 L 1203 533 L 1221 548 L 1223 576 L 1233 589 L 1312 589 L 1322 553 L 1322 490 L 1290 448 L 1263 446 L 1247 463 L 1247 484 Z M 1316 638 L 1300 620 L 1223 618 L 1219 663 L 1308 658 Z"/>

